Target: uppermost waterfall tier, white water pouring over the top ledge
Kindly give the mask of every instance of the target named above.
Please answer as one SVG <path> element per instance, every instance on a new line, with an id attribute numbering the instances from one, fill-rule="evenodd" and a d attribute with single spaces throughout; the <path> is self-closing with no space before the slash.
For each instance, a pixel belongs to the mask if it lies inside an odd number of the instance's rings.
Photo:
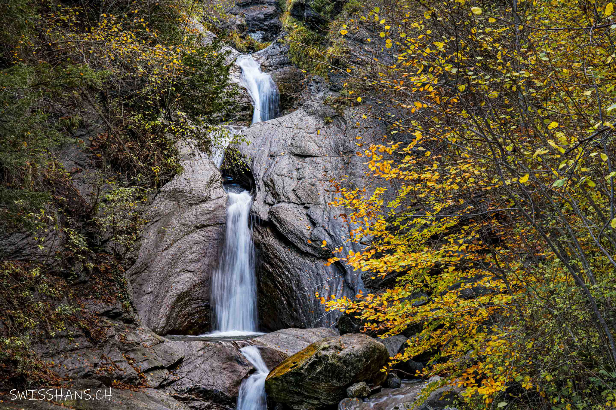
<path id="1" fill-rule="evenodd" d="M 278 114 L 278 88 L 269 74 L 261 72 L 261 65 L 252 55 L 240 55 L 241 85 L 253 99 L 253 124 L 275 118 Z"/>

